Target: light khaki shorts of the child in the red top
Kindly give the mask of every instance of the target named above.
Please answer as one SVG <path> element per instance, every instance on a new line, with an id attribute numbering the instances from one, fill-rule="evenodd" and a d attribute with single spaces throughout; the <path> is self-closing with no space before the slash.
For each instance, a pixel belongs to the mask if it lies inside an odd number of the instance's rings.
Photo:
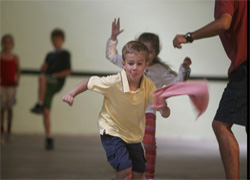
<path id="1" fill-rule="evenodd" d="M 1 108 L 12 108 L 16 103 L 16 87 L 15 86 L 2 86 L 0 88 Z"/>

